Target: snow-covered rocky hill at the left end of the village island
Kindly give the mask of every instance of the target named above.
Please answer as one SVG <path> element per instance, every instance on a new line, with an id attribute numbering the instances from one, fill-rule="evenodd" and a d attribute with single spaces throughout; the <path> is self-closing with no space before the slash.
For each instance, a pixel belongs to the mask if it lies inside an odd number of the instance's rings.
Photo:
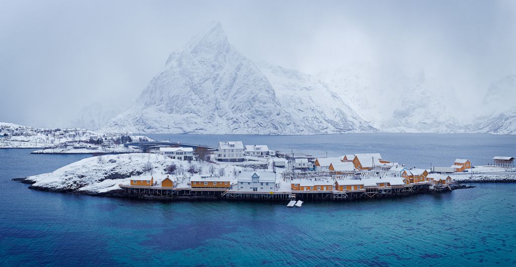
<path id="1" fill-rule="evenodd" d="M 187 162 L 172 160 L 164 155 L 151 153 L 134 153 L 102 155 L 86 158 L 55 171 L 27 177 L 25 180 L 33 186 L 45 190 L 77 191 L 84 193 L 105 193 L 120 189 L 119 184 L 129 184 L 132 175 L 140 175 L 150 166 L 152 174 L 161 176 L 169 165 L 175 164 L 174 177 L 190 177 L 187 170 L 193 166 L 198 170 L 195 176 L 214 175 L 224 169 L 225 176 L 234 178 L 239 170 L 249 170 L 232 165 L 218 165 L 209 162 Z M 149 173 L 149 172 L 148 172 Z"/>

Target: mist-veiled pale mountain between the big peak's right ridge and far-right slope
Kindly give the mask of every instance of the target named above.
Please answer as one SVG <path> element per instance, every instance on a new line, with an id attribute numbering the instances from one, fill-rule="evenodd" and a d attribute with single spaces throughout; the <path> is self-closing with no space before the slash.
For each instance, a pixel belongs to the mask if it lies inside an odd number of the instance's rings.
<path id="1" fill-rule="evenodd" d="M 318 73 L 335 91 L 349 96 L 359 115 L 382 132 L 461 132 L 457 96 L 424 71 L 354 64 Z"/>

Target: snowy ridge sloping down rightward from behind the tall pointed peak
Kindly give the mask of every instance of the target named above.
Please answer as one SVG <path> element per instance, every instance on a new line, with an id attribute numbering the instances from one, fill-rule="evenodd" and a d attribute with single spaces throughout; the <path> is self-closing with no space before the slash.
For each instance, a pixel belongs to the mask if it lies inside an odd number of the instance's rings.
<path id="1" fill-rule="evenodd" d="M 307 127 L 312 128 L 309 132 L 375 131 L 329 85 L 317 78 L 264 61 L 258 62 L 257 66 L 274 88 L 281 106 L 292 117 L 309 122 Z"/>

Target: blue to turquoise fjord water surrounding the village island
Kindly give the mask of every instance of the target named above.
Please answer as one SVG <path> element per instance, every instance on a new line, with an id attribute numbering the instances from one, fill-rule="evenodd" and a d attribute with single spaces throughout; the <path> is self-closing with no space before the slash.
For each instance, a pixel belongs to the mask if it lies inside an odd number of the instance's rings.
<path id="1" fill-rule="evenodd" d="M 435 142 L 424 136 L 384 142 L 396 151 L 377 147 L 381 140 L 374 136 L 360 142 L 371 142 L 368 151 L 400 162 L 414 153 L 421 160 L 442 155 L 444 164 L 456 151 L 474 162 L 516 151 L 510 136 L 429 136 Z M 460 138 L 450 140 L 454 136 Z M 271 138 L 276 143 L 267 144 L 316 151 L 324 138 L 312 137 Z M 342 146 L 322 143 L 325 150 Z M 474 189 L 397 199 L 305 202 L 296 209 L 286 203 L 163 203 L 29 190 L 10 179 L 85 157 L 30 151 L 0 149 L 2 266 L 516 265 L 514 183 L 477 183 Z"/>

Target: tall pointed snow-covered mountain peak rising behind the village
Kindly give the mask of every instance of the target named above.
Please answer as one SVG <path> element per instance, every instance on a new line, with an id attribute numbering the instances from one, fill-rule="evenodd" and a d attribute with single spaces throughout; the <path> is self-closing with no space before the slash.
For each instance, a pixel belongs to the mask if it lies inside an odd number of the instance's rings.
<path id="1" fill-rule="evenodd" d="M 293 108 L 313 110 L 297 117 Z M 285 105 L 254 62 L 228 42 L 220 23 L 213 23 L 173 52 L 135 103 L 103 131 L 318 134 L 372 129 L 356 114 L 347 114 L 347 108 L 325 117 L 329 114 L 317 111 L 320 107 Z M 341 118 L 346 120 L 337 121 Z"/>

